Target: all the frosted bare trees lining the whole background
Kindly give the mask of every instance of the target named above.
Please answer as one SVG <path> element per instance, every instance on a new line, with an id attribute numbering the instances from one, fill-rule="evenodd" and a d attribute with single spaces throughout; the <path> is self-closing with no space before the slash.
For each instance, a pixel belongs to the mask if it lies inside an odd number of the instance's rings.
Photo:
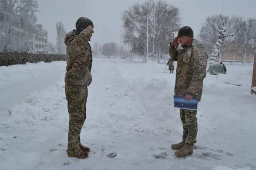
<path id="1" fill-rule="evenodd" d="M 37 0 L 0 0 L 0 49 L 33 52 L 33 39 L 27 35 L 17 38 L 15 30 L 23 29 L 30 35 L 40 34 L 34 27 L 37 12 Z M 161 0 L 148 0 L 130 6 L 122 13 L 122 20 L 122 38 L 131 52 L 146 56 L 148 51 L 153 60 L 158 58 L 158 62 L 160 56 L 168 55 L 168 44 L 174 37 L 173 33 L 181 26 L 179 9 Z M 48 42 L 44 53 L 66 53 L 64 38 L 67 31 L 62 22 L 56 23 L 56 31 L 56 47 Z M 245 62 L 246 56 L 256 49 L 256 18 L 245 20 L 225 15 L 207 17 L 198 38 L 212 59 L 221 62 L 223 54 L 228 52 L 233 54 L 233 61 L 240 55 Z M 124 53 L 124 47 L 116 43 L 102 46 L 96 43 L 93 49 L 96 56 L 122 56 Z"/>

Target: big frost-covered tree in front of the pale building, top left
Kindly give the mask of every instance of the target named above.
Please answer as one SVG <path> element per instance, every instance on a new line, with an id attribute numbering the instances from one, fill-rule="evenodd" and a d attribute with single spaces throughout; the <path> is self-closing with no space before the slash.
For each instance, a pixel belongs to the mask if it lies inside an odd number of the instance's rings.
<path id="1" fill-rule="evenodd" d="M 17 28 L 33 31 L 37 22 L 37 0 L 0 0 L 0 47 L 6 51 L 15 43 L 14 30 Z"/>

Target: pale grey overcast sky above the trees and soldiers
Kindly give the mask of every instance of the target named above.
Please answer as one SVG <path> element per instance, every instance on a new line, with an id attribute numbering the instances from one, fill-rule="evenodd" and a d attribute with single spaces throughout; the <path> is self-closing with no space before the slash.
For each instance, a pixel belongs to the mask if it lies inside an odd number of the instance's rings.
<path id="1" fill-rule="evenodd" d="M 94 22 L 92 43 L 121 43 L 121 13 L 134 3 L 144 0 L 38 0 L 38 23 L 48 31 L 48 40 L 56 42 L 56 22 L 62 21 L 69 32 L 75 29 L 79 17 Z M 182 26 L 190 26 L 197 36 L 207 16 L 237 15 L 245 19 L 256 17 L 256 0 L 166 0 L 180 9 Z M 170 40 L 171 41 L 171 40 Z"/>

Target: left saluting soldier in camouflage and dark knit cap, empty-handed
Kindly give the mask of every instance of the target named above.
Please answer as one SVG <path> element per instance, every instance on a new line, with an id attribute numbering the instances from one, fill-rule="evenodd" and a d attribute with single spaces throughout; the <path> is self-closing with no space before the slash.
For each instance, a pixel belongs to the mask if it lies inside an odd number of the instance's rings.
<path id="1" fill-rule="evenodd" d="M 90 148 L 80 142 L 80 133 L 86 119 L 87 87 L 91 83 L 92 55 L 89 40 L 94 33 L 91 20 L 81 17 L 76 22 L 76 30 L 65 38 L 67 45 L 67 67 L 65 93 L 68 101 L 69 132 L 68 156 L 87 158 Z"/>

